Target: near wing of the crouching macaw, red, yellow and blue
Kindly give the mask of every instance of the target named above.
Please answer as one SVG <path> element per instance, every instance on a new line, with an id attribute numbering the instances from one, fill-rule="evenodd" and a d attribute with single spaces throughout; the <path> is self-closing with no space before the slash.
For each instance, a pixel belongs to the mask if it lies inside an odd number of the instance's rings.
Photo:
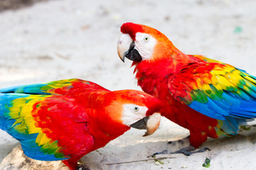
<path id="1" fill-rule="evenodd" d="M 0 94 L 0 128 L 33 159 L 54 161 L 90 152 L 90 120 L 67 96 Z"/>

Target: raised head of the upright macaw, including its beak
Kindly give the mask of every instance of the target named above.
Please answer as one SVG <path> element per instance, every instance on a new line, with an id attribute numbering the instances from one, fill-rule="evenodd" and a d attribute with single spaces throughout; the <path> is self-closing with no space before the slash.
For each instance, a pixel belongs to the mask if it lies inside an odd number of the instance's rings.
<path id="1" fill-rule="evenodd" d="M 177 50 L 166 35 L 149 26 L 124 23 L 121 32 L 117 52 L 123 62 L 124 57 L 134 62 L 154 61 Z"/>

